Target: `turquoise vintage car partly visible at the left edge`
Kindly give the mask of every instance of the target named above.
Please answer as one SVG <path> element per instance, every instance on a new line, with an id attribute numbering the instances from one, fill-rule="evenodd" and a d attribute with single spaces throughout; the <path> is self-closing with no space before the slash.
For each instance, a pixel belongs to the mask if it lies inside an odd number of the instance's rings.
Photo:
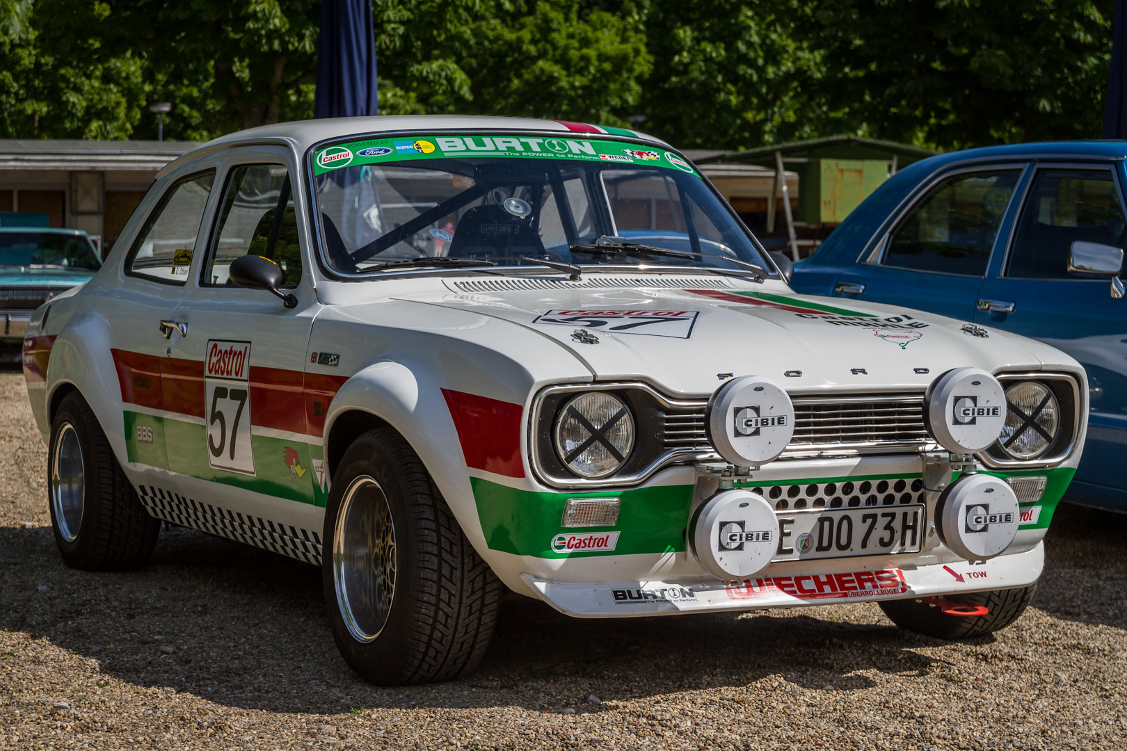
<path id="1" fill-rule="evenodd" d="M 19 346 L 35 309 L 101 268 L 81 230 L 0 226 L 0 345 Z"/>

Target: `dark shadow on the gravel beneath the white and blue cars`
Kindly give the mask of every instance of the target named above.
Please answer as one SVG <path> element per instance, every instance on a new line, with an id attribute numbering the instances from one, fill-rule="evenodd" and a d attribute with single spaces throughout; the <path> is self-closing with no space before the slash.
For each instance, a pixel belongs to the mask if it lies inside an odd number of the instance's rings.
<path id="1" fill-rule="evenodd" d="M 1062 507 L 1036 607 L 1124 627 L 1125 531 L 1127 517 Z M 654 697 L 775 674 L 782 689 L 854 690 L 872 685 L 863 670 L 911 679 L 939 664 L 914 650 L 940 642 L 890 625 L 840 623 L 833 609 L 577 620 L 516 597 L 504 604 L 476 673 L 380 689 L 357 679 L 338 655 L 320 572 L 272 553 L 172 528 L 161 531 L 147 570 L 86 573 L 62 565 L 50 529 L 0 528 L 0 580 L 5 629 L 50 637 L 96 660 L 101 674 L 137 686 L 273 712 L 411 704 L 558 709 L 567 703 L 597 712 L 583 704 L 588 694 Z"/>

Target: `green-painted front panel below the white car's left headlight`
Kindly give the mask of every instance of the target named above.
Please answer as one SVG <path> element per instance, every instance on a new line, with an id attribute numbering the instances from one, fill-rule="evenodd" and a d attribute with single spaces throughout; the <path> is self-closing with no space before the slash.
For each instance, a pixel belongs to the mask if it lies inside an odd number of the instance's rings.
<path id="1" fill-rule="evenodd" d="M 538 493 L 470 477 L 481 531 L 491 551 L 568 558 L 633 553 L 680 553 L 685 549 L 685 525 L 693 485 L 659 485 L 602 493 Z M 619 521 L 613 527 L 566 528 L 560 526 L 569 498 L 619 498 Z M 557 553 L 556 535 L 620 531 L 614 551 L 606 553 Z"/>

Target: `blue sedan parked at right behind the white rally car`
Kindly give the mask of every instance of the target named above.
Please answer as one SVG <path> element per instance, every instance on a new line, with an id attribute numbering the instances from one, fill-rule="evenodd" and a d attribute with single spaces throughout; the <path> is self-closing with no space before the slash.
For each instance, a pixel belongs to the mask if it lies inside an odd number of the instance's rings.
<path id="1" fill-rule="evenodd" d="M 916 162 L 796 263 L 791 286 L 949 315 L 1075 357 L 1088 370 L 1090 415 L 1068 499 L 1127 512 L 1125 159 L 1127 142 L 1092 141 Z M 1029 424 L 1005 450 L 1015 458 L 1048 452 L 1038 435 L 1048 396 L 1008 399 Z"/>

